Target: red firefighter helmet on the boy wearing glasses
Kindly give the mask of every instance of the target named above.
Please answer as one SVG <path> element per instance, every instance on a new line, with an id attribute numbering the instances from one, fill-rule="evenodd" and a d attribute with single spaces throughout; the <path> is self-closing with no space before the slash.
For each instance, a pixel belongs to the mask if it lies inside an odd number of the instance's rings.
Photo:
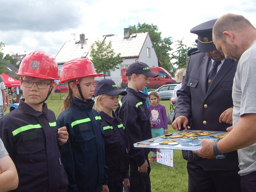
<path id="1" fill-rule="evenodd" d="M 58 64 L 50 54 L 44 51 L 28 53 L 21 61 L 16 74 L 43 79 L 60 79 Z"/>

